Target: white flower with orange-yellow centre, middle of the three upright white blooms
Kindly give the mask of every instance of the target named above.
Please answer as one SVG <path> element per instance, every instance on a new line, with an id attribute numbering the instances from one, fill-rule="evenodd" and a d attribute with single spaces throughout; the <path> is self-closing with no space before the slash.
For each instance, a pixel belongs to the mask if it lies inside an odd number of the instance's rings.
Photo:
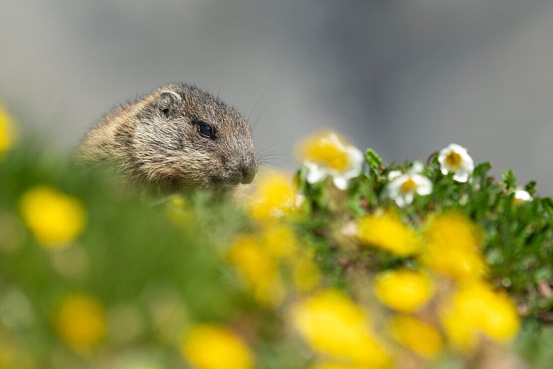
<path id="1" fill-rule="evenodd" d="M 388 196 L 399 207 L 403 208 L 412 203 L 415 193 L 420 196 L 432 193 L 432 182 L 419 174 L 423 168 L 421 162 L 415 162 L 407 173 L 392 171 L 388 174 L 388 179 L 392 181 L 386 186 Z"/>

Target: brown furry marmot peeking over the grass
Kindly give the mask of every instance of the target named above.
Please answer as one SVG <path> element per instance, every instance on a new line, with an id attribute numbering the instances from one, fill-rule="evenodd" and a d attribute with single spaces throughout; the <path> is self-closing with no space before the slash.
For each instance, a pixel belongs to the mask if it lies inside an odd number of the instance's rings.
<path id="1" fill-rule="evenodd" d="M 88 163 L 114 160 L 133 180 L 166 188 L 251 183 L 258 170 L 242 115 L 183 83 L 116 107 L 88 131 L 79 151 Z"/>

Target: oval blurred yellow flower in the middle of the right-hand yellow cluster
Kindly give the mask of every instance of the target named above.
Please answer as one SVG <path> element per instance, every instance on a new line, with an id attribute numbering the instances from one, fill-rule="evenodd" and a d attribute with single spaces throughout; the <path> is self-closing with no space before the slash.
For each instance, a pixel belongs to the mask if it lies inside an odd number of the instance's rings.
<path id="1" fill-rule="evenodd" d="M 432 297 L 434 286 L 425 273 L 408 269 L 388 270 L 376 276 L 375 291 L 378 299 L 392 309 L 411 312 Z"/>

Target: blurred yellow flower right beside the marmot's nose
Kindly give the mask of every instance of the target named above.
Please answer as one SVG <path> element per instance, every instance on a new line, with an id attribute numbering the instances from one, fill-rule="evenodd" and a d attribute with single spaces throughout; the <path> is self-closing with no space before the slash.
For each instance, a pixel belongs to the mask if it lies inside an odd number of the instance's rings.
<path id="1" fill-rule="evenodd" d="M 289 181 L 273 173 L 259 182 L 250 203 L 250 214 L 255 219 L 279 218 L 293 211 L 295 201 Z"/>

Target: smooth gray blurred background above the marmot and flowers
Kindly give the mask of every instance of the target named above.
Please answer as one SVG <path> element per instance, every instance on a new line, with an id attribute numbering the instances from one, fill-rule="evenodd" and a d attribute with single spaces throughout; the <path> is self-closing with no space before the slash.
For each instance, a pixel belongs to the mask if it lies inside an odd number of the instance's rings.
<path id="1" fill-rule="evenodd" d="M 551 194 L 550 0 L 0 2 L 0 99 L 57 147 L 176 80 L 263 112 L 258 150 L 320 127 L 385 160 L 456 142 Z"/>

